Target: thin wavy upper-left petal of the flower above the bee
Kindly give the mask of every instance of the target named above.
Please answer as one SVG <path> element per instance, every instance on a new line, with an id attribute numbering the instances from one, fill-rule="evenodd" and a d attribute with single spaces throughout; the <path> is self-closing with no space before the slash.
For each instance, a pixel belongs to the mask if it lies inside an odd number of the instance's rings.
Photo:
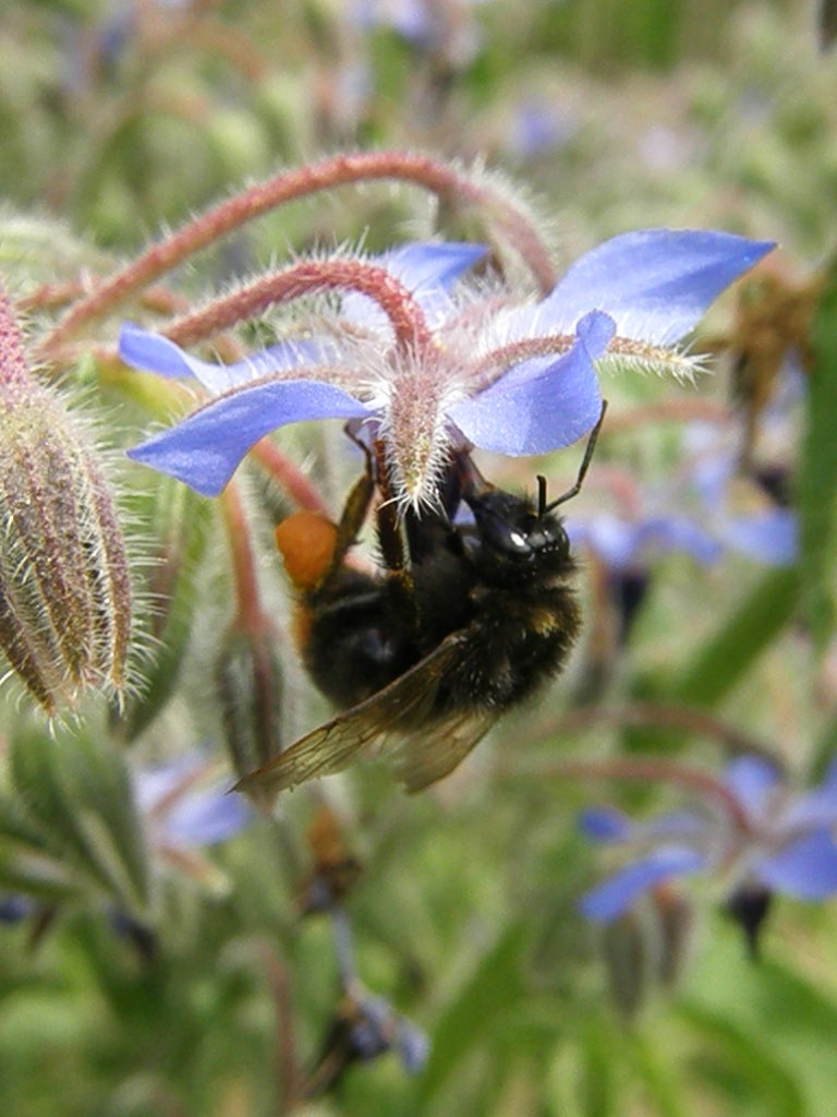
<path id="1" fill-rule="evenodd" d="M 280 342 L 246 361 L 212 364 L 192 356 L 161 334 L 126 323 L 119 331 L 118 353 L 132 369 L 166 378 L 194 376 L 204 388 L 219 393 L 270 373 L 324 364 L 334 359 L 334 345 L 328 340 L 314 338 Z"/>

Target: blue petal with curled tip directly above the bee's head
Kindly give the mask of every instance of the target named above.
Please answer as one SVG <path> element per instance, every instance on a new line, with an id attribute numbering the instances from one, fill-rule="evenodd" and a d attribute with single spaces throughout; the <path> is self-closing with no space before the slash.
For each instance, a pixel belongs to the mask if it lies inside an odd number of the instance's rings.
<path id="1" fill-rule="evenodd" d="M 606 315 L 578 323 L 573 349 L 512 369 L 491 388 L 453 404 L 449 418 L 474 446 L 525 457 L 569 446 L 596 423 L 602 397 L 593 361 L 613 336 Z"/>

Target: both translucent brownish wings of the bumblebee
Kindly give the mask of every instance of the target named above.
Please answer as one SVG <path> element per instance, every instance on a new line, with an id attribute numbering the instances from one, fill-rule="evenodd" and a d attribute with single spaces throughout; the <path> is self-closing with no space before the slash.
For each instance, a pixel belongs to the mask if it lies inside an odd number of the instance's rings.
<path id="1" fill-rule="evenodd" d="M 461 655 L 462 642 L 462 633 L 449 636 L 383 690 L 250 772 L 235 790 L 282 791 L 316 776 L 341 772 L 358 756 L 388 760 L 407 791 L 420 791 L 441 780 L 494 720 L 493 714 L 473 710 L 453 710 L 440 719 L 427 719 L 445 671 Z"/>

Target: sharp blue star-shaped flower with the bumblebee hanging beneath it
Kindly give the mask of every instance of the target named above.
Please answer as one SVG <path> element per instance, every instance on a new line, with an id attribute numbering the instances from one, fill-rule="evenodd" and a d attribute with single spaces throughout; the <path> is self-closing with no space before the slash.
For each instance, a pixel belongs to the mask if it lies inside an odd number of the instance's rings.
<path id="1" fill-rule="evenodd" d="M 381 261 L 427 316 L 431 355 L 405 355 L 363 296 L 329 333 L 219 366 L 126 326 L 119 354 L 163 376 L 196 376 L 219 398 L 129 451 L 208 496 L 261 437 L 317 419 L 365 422 L 386 450 L 404 502 L 432 497 L 450 448 L 510 456 L 569 446 L 600 412 L 594 362 L 687 369 L 673 346 L 706 306 L 772 248 L 721 232 L 644 230 L 581 257 L 539 303 L 454 281 L 483 255 L 473 245 L 408 245 Z M 348 321 L 347 321 L 348 319 Z"/>

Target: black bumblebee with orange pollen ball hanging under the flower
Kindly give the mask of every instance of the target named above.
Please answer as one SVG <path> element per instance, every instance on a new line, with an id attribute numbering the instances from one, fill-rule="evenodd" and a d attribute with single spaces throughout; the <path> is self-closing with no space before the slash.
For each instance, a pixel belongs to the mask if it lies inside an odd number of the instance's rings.
<path id="1" fill-rule="evenodd" d="M 383 499 L 381 571 L 350 563 L 382 487 L 372 455 L 339 524 L 308 512 L 279 524 L 305 667 L 344 712 L 244 776 L 239 790 L 280 791 L 381 756 L 407 791 L 420 791 L 564 668 L 581 618 L 576 563 L 555 509 L 579 491 L 604 412 L 576 484 L 551 503 L 542 477 L 535 499 L 518 496 L 485 481 L 466 452 L 451 461 L 437 513 L 408 510 L 398 523 Z M 461 505 L 471 514 L 464 524 Z"/>

